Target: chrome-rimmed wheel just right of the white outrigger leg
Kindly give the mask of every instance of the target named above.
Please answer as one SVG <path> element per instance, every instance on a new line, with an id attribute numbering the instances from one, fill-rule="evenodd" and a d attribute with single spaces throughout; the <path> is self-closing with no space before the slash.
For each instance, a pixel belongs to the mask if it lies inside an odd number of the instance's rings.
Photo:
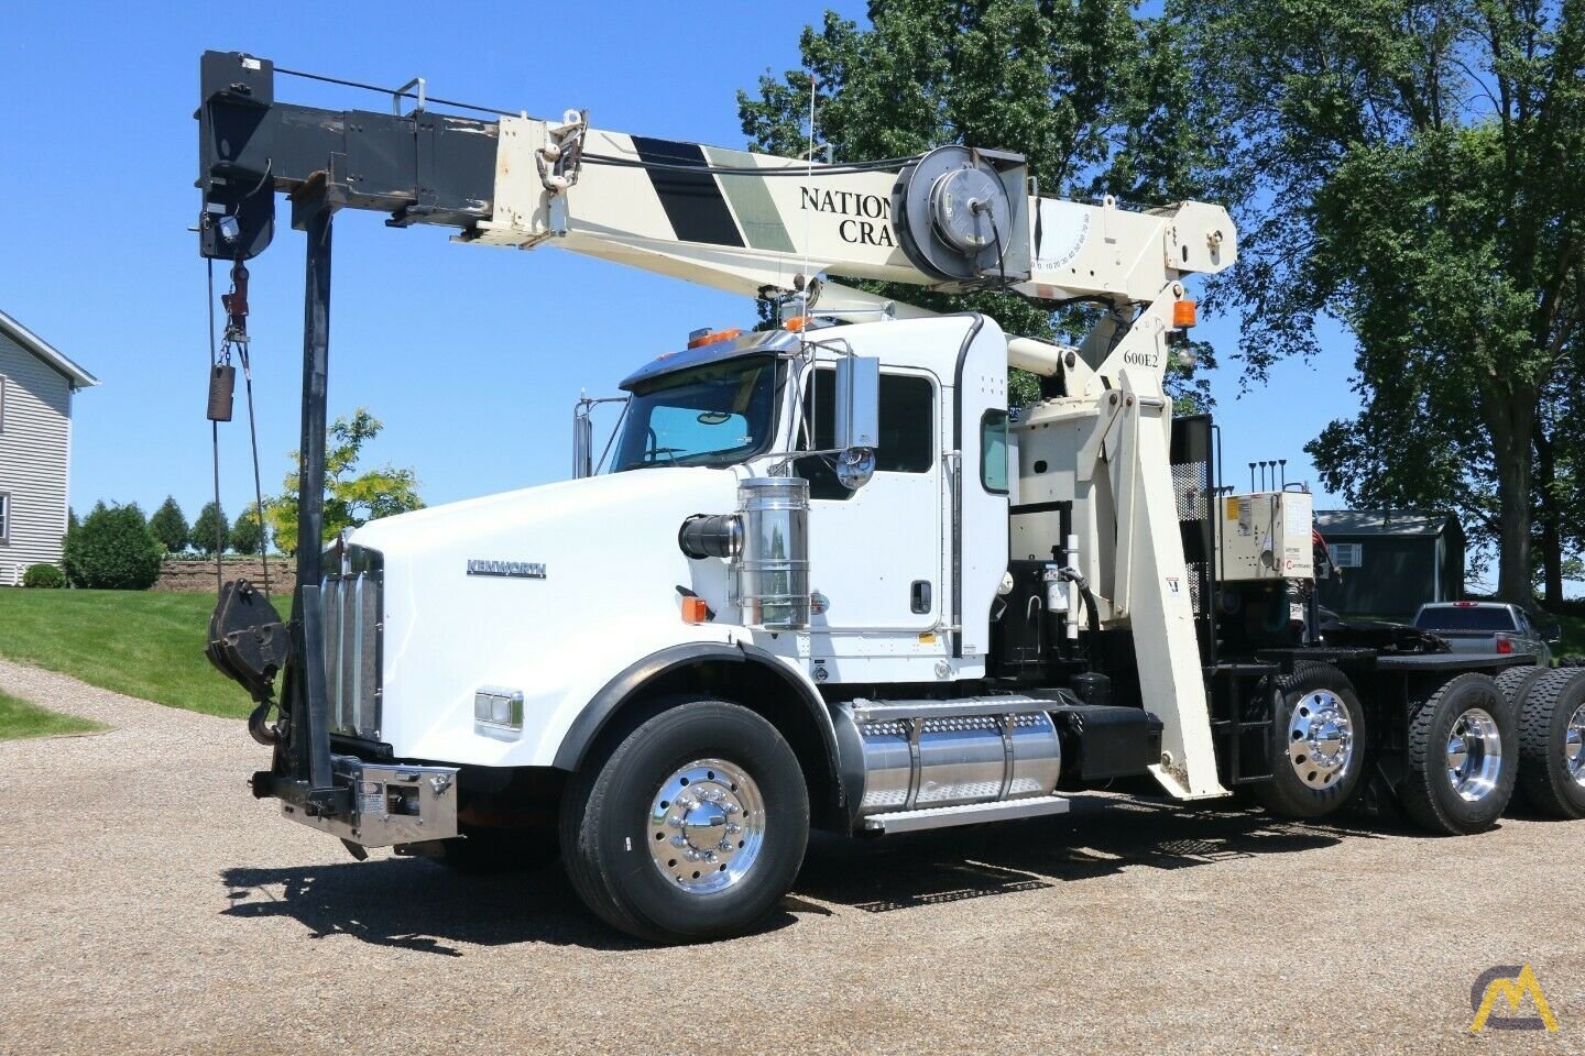
<path id="1" fill-rule="evenodd" d="M 1298 663 L 1276 681 L 1271 781 L 1255 796 L 1281 817 L 1319 819 L 1354 795 L 1365 766 L 1365 706 L 1330 663 Z"/>

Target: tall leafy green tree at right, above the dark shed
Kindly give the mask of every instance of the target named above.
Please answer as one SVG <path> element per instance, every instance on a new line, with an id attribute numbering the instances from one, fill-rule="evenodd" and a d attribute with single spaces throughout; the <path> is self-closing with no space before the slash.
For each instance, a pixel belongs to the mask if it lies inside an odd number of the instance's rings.
<path id="1" fill-rule="evenodd" d="M 1308 448 L 1327 484 L 1460 510 L 1512 602 L 1533 598 L 1539 513 L 1560 594 L 1563 507 L 1537 503 L 1536 473 L 1545 445 L 1564 467 L 1585 443 L 1550 404 L 1585 325 L 1585 5 L 1168 9 L 1194 93 L 1238 135 L 1222 192 L 1243 258 L 1213 288 L 1244 310 L 1249 377 L 1319 355 L 1317 318 L 1339 321 L 1362 408 Z"/>

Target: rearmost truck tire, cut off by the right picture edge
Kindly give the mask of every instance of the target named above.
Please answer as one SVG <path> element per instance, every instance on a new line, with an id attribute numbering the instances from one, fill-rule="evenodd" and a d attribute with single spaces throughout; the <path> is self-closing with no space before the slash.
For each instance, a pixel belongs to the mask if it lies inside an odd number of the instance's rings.
<path id="1" fill-rule="evenodd" d="M 1549 671 L 1522 705 L 1518 782 L 1542 814 L 1585 817 L 1585 671 Z"/>

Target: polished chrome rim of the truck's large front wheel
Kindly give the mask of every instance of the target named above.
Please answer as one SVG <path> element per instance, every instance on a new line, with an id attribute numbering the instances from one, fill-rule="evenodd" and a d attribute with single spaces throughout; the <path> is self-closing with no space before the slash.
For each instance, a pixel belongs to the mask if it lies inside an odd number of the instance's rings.
<path id="1" fill-rule="evenodd" d="M 661 876 L 689 895 L 739 883 L 766 844 L 759 785 L 724 758 L 678 766 L 650 803 L 648 844 Z"/>

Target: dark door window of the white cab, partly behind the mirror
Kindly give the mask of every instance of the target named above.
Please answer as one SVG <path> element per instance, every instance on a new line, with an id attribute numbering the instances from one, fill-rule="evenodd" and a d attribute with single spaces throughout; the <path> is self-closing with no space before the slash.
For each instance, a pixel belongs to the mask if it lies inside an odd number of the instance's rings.
<path id="1" fill-rule="evenodd" d="M 804 393 L 804 421 L 813 418 L 818 451 L 837 443 L 837 375 L 821 367 Z M 810 446 L 810 445 L 805 445 Z M 799 477 L 808 481 L 810 499 L 851 499 L 824 456 L 802 458 Z M 880 446 L 875 450 L 878 473 L 929 473 L 935 465 L 935 385 L 930 378 L 881 374 Z"/>

